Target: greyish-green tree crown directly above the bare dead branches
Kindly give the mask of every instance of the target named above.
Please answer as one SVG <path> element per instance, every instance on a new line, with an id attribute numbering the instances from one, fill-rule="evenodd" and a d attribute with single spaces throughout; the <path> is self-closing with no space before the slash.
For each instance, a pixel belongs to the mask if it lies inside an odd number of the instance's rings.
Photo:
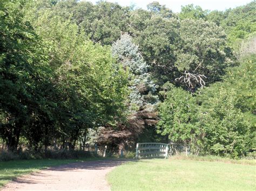
<path id="1" fill-rule="evenodd" d="M 184 19 L 180 24 L 180 48 L 176 51 L 175 66 L 180 76 L 185 71 L 193 75 L 204 75 L 203 80 L 208 85 L 219 81 L 225 74 L 225 68 L 232 64 L 227 49 L 226 35 L 221 27 L 203 19 Z M 179 82 L 190 91 L 203 84 L 200 80 L 192 79 Z"/>

